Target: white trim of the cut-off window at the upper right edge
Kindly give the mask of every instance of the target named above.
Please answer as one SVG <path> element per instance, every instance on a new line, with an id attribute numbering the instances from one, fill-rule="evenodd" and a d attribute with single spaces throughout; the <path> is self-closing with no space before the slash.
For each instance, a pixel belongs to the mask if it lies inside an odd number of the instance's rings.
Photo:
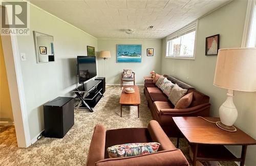
<path id="1" fill-rule="evenodd" d="M 256 21 L 256 0 L 250 0 L 248 1 L 248 4 L 247 4 L 243 39 L 241 44 L 242 47 L 255 47 L 255 45 L 253 46 L 253 44 L 255 44 L 256 39 L 254 39 L 254 41 L 250 39 L 251 37 L 254 37 L 254 38 L 256 37 L 256 36 L 252 36 L 252 30 L 253 28 L 255 28 L 255 25 L 256 25 L 255 21 Z"/>

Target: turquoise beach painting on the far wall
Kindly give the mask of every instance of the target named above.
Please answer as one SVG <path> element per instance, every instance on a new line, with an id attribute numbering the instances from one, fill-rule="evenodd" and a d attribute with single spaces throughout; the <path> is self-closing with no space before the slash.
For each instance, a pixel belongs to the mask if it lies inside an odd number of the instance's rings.
<path id="1" fill-rule="evenodd" d="M 141 44 L 117 44 L 117 63 L 141 63 Z"/>

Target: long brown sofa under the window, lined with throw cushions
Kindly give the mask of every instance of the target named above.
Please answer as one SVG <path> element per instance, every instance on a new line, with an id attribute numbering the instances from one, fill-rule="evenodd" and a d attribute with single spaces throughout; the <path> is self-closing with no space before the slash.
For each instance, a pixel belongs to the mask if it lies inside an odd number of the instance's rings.
<path id="1" fill-rule="evenodd" d="M 167 75 L 164 75 L 164 77 L 172 81 L 172 83 L 178 84 L 181 88 L 188 89 L 187 93 L 193 92 L 193 100 L 188 108 L 174 109 L 175 106 L 168 100 L 168 97 L 152 81 L 145 80 L 144 94 L 153 119 L 160 124 L 164 132 L 172 137 L 181 136 L 173 117 L 209 116 L 209 97 L 174 77 Z"/>

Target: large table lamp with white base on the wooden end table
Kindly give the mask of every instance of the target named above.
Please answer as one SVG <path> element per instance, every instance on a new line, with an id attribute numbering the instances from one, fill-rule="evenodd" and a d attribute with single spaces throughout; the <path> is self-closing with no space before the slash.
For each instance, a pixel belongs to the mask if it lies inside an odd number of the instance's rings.
<path id="1" fill-rule="evenodd" d="M 227 90 L 227 99 L 220 106 L 217 126 L 236 131 L 233 124 L 238 111 L 233 103 L 234 90 L 256 91 L 256 48 L 220 49 L 218 52 L 214 85 Z"/>

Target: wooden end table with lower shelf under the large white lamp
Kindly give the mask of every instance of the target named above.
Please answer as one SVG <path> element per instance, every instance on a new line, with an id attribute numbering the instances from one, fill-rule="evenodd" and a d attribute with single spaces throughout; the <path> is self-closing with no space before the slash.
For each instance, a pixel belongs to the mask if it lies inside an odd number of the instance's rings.
<path id="1" fill-rule="evenodd" d="M 220 121 L 219 117 L 205 118 Z M 197 159 L 239 161 L 240 165 L 244 165 L 247 146 L 256 145 L 255 139 L 238 128 L 236 132 L 225 131 L 201 117 L 173 117 L 173 120 L 191 146 L 193 165 L 196 165 Z M 242 146 L 241 157 L 234 156 L 224 145 Z"/>

